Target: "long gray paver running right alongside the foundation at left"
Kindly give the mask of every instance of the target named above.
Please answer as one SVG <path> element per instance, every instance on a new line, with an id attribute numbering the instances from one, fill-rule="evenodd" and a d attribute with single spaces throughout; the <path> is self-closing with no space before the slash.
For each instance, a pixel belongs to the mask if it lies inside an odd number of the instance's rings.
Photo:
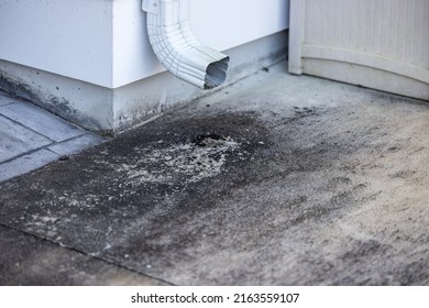
<path id="1" fill-rule="evenodd" d="M 55 142 L 62 142 L 85 134 L 85 131 L 77 127 L 26 102 L 16 102 L 0 107 L 0 114 Z"/>

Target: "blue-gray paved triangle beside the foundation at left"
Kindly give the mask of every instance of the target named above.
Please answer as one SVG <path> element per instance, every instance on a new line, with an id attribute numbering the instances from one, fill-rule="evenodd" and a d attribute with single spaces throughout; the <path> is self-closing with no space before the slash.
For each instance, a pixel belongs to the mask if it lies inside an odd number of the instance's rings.
<path id="1" fill-rule="evenodd" d="M 0 91 L 0 182 L 101 142 L 99 135 Z"/>

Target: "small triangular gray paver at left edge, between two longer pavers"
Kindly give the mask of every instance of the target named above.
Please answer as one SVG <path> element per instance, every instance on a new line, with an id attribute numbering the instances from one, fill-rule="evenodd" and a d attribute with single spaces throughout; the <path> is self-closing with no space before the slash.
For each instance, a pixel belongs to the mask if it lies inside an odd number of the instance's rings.
<path id="1" fill-rule="evenodd" d="M 51 143 L 47 138 L 0 114 L 0 163 Z"/>

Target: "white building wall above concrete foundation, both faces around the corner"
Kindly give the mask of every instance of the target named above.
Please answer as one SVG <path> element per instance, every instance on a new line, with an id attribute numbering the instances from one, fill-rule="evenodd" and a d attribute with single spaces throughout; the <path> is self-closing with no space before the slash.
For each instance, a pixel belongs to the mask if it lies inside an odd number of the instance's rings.
<path id="1" fill-rule="evenodd" d="M 283 31 L 288 0 L 190 0 L 195 34 L 224 51 Z M 0 58 L 102 87 L 163 72 L 142 0 L 4 0 Z"/>

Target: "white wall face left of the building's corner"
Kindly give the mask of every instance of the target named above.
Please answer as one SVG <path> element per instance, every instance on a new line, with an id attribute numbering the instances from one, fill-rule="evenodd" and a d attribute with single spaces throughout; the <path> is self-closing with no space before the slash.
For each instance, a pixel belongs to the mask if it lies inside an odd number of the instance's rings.
<path id="1" fill-rule="evenodd" d="M 1 0 L 0 58 L 111 85 L 111 0 Z"/>

